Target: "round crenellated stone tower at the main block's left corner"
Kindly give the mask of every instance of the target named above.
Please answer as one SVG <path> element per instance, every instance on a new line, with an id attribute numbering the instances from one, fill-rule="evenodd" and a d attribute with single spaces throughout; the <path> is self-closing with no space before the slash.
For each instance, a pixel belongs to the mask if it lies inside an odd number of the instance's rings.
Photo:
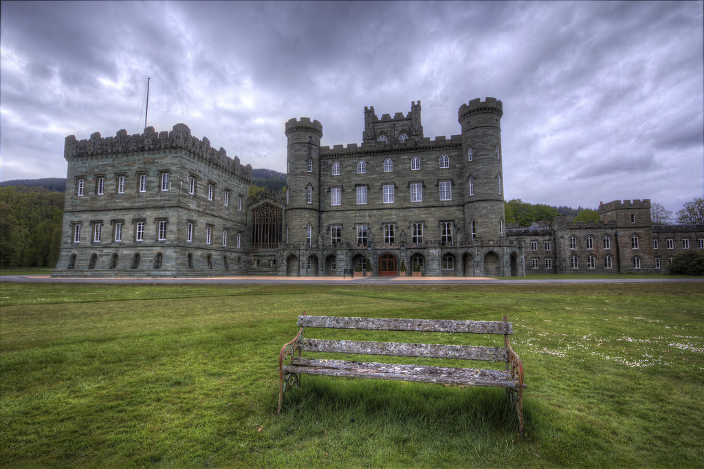
<path id="1" fill-rule="evenodd" d="M 287 243 L 311 246 L 320 234 L 320 139 L 322 124 L 310 118 L 286 123 Z"/>

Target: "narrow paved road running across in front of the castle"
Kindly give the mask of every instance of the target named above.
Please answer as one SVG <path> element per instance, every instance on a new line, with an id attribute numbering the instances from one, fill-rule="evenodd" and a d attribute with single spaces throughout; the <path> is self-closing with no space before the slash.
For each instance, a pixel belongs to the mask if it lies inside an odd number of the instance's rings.
<path id="1" fill-rule="evenodd" d="M 486 277 L 365 277 L 351 279 L 347 277 L 194 277 L 194 278 L 51 278 L 49 275 L 3 275 L 1 282 L 34 283 L 94 283 L 94 284 L 356 284 L 356 285 L 482 285 L 482 284 L 617 284 L 617 283 L 704 283 L 704 277 L 691 278 L 623 278 L 586 279 L 555 278 L 532 279 L 530 277 L 497 280 Z"/>

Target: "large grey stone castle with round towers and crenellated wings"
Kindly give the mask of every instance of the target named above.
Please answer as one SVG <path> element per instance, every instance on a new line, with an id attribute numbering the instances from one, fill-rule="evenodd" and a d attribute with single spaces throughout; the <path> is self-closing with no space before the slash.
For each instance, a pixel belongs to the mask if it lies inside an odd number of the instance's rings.
<path id="1" fill-rule="evenodd" d="M 251 165 L 184 124 L 70 135 L 53 275 L 658 272 L 677 251 L 704 249 L 704 226 L 653 227 L 648 200 L 601 204 L 600 223 L 508 227 L 501 101 L 460 106 L 449 139 L 423 135 L 420 109 L 365 108 L 359 146 L 322 146 L 318 120 L 289 120 L 287 192 L 252 197 Z"/>

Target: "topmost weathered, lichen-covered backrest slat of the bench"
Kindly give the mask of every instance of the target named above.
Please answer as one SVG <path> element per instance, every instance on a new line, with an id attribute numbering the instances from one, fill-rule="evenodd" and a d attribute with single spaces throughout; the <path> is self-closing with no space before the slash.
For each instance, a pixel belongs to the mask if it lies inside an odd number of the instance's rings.
<path id="1" fill-rule="evenodd" d="M 448 319 L 339 318 L 301 315 L 298 316 L 298 327 L 513 334 L 513 325 L 503 321 L 459 321 Z"/>

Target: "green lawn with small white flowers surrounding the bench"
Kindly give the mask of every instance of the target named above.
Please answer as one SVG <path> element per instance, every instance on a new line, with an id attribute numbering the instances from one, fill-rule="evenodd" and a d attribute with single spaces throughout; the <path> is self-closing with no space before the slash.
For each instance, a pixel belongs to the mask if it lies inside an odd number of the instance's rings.
<path id="1" fill-rule="evenodd" d="M 701 284 L 4 283 L 0 308 L 4 467 L 704 465 Z M 526 437 L 501 389 L 303 376 L 276 415 L 303 309 L 508 315 Z"/>

